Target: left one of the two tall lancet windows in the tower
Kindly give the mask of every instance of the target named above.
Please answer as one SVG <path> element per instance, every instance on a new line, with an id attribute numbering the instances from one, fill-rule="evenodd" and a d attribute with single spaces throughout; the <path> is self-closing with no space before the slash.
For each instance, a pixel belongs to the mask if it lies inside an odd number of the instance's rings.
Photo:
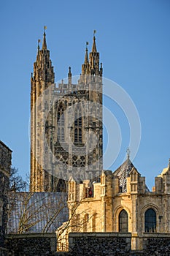
<path id="1" fill-rule="evenodd" d="M 58 140 L 64 141 L 64 109 L 63 106 L 60 105 L 58 108 L 58 114 L 57 114 L 57 123 L 58 123 Z"/>

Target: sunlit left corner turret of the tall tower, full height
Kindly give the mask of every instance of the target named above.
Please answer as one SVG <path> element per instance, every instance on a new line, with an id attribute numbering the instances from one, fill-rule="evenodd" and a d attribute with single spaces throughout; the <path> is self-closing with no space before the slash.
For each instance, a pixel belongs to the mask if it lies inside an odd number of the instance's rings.
<path id="1" fill-rule="evenodd" d="M 42 168 L 42 162 L 45 161 L 45 143 L 44 128 L 45 124 L 45 98 L 42 104 L 37 108 L 36 102 L 38 97 L 45 89 L 54 83 L 55 74 L 53 71 L 52 61 L 50 60 L 50 50 L 47 50 L 46 34 L 42 42 L 42 49 L 39 48 L 34 62 L 34 74 L 31 74 L 31 176 L 30 190 L 32 192 L 42 192 L 50 187 L 50 178 L 45 181 L 47 173 Z M 50 124 L 49 124 L 50 125 Z M 50 136 L 50 135 L 49 135 Z M 50 138 L 47 138 L 50 140 Z M 48 183 L 48 184 L 45 184 Z"/>

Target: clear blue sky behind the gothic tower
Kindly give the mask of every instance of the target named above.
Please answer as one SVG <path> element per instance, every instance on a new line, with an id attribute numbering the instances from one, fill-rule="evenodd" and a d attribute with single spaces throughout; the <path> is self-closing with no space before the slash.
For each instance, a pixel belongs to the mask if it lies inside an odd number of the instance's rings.
<path id="1" fill-rule="evenodd" d="M 104 77 L 122 86 L 139 111 L 142 138 L 134 165 L 152 187 L 170 157 L 170 1 L 7 0 L 0 3 L 0 19 L 0 140 L 12 149 L 12 164 L 23 177 L 29 172 L 30 75 L 43 26 L 55 81 L 66 78 L 69 66 L 80 74 L 85 42 L 91 46 L 96 29 Z M 117 120 L 123 144 L 112 170 L 123 162 L 129 140 L 127 120 Z"/>

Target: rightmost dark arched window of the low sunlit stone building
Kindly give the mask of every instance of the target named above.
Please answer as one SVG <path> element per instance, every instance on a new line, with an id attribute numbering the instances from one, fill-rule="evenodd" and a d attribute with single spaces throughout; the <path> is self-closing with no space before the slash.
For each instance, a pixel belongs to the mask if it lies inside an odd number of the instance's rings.
<path id="1" fill-rule="evenodd" d="M 150 208 L 144 214 L 144 231 L 154 232 L 156 228 L 156 213 Z"/>

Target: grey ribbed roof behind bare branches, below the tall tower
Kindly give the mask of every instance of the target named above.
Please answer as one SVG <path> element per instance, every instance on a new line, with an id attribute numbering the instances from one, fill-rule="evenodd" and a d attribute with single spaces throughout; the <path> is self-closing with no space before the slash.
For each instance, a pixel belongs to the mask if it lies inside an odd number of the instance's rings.
<path id="1" fill-rule="evenodd" d="M 66 192 L 9 192 L 8 233 L 54 232 L 68 219 Z"/>

